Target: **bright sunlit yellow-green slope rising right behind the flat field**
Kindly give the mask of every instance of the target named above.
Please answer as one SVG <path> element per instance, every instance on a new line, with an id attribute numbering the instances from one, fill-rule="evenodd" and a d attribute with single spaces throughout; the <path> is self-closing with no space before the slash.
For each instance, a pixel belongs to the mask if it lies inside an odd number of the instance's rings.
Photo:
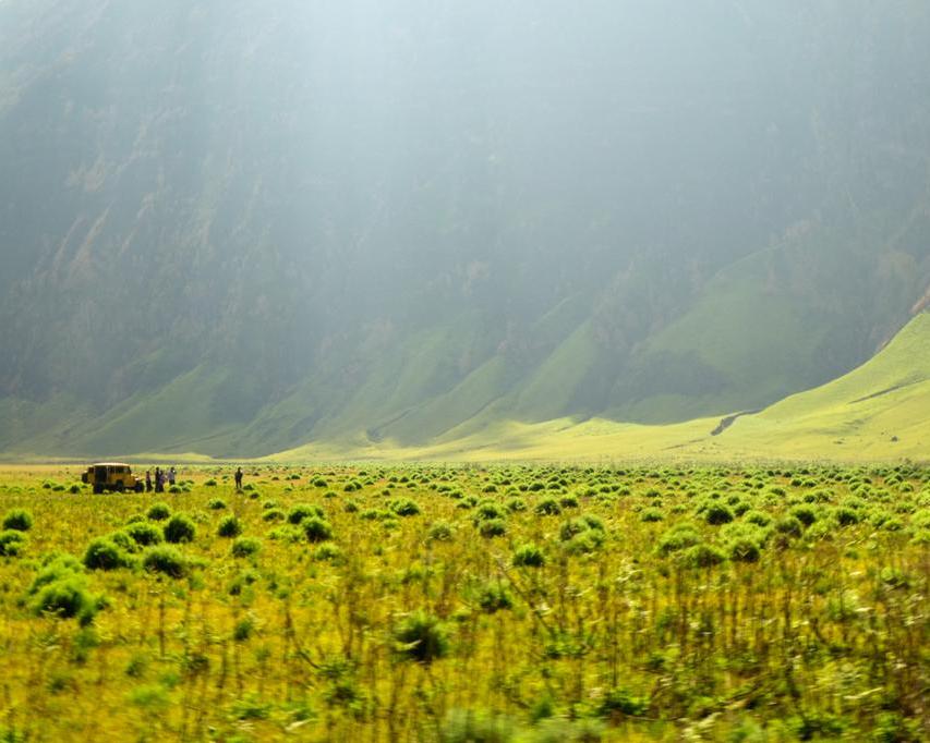
<path id="1" fill-rule="evenodd" d="M 714 436 L 718 424 L 718 418 L 669 425 L 511 422 L 430 447 L 347 441 L 274 459 L 930 461 L 930 314 L 915 317 L 849 374 L 741 415 Z"/>

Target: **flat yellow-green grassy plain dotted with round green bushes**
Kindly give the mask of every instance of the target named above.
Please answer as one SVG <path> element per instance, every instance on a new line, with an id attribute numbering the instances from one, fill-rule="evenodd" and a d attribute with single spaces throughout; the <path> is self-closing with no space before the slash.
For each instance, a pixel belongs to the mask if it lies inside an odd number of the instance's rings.
<path id="1" fill-rule="evenodd" d="M 233 470 L 0 471 L 0 740 L 928 739 L 923 468 Z"/>

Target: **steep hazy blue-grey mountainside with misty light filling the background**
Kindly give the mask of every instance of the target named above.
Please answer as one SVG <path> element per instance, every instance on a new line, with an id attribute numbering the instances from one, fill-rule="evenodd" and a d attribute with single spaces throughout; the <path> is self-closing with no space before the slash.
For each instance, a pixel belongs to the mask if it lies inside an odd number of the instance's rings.
<path id="1" fill-rule="evenodd" d="M 0 451 L 764 407 L 930 299 L 918 1 L 0 1 Z"/>

